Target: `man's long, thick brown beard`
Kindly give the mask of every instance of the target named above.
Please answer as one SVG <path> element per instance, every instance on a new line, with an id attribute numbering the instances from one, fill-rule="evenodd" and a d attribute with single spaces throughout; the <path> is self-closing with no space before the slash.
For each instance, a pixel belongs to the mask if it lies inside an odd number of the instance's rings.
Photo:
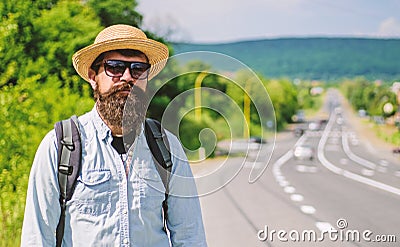
<path id="1" fill-rule="evenodd" d="M 130 90 L 130 94 L 119 94 L 125 90 Z M 121 128 L 123 135 L 139 133 L 148 106 L 147 96 L 141 88 L 124 84 L 100 93 L 97 86 L 94 98 L 97 101 L 97 110 L 107 125 Z"/>

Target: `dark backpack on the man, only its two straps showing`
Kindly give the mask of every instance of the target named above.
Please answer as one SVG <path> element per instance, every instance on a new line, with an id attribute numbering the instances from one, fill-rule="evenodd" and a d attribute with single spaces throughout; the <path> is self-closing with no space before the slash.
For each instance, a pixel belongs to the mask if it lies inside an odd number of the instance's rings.
<path id="1" fill-rule="evenodd" d="M 54 125 L 58 144 L 58 183 L 60 186 L 61 215 L 56 231 L 56 246 L 60 247 L 64 236 L 66 204 L 74 193 L 76 180 L 81 170 L 82 144 L 77 116 L 57 122 Z M 145 136 L 153 155 L 158 173 L 165 187 L 162 202 L 163 230 L 167 231 L 169 176 L 172 169 L 171 153 L 165 131 L 157 120 L 146 118 Z"/>

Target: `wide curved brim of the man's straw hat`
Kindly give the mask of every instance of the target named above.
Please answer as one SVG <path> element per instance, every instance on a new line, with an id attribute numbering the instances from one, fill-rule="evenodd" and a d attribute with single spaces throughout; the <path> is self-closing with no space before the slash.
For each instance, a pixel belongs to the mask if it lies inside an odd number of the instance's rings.
<path id="1" fill-rule="evenodd" d="M 152 39 L 119 38 L 89 45 L 72 56 L 72 64 L 76 72 L 89 82 L 89 69 L 94 60 L 103 52 L 132 49 L 143 52 L 151 64 L 149 80 L 165 67 L 168 59 L 168 47 Z"/>

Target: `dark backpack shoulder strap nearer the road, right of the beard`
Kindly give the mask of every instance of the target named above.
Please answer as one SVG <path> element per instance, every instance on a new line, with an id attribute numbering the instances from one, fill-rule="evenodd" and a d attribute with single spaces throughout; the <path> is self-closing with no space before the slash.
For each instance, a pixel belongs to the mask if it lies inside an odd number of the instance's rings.
<path id="1" fill-rule="evenodd" d="M 165 199 L 162 203 L 164 231 L 167 229 L 168 219 L 168 194 L 169 194 L 169 178 L 172 170 L 171 153 L 169 151 L 169 143 L 164 129 L 157 120 L 147 118 L 145 122 L 145 135 L 147 145 L 155 160 L 156 168 L 160 174 L 161 180 L 165 187 Z"/>

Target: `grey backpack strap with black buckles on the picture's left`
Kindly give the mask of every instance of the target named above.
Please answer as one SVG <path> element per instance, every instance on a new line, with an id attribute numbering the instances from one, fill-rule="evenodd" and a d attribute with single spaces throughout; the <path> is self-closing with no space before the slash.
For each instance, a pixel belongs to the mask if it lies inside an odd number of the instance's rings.
<path id="1" fill-rule="evenodd" d="M 60 187 L 61 215 L 56 231 L 56 246 L 61 246 L 64 236 L 66 203 L 72 197 L 79 176 L 82 145 L 78 118 L 74 115 L 54 125 L 58 145 L 58 184 Z"/>

